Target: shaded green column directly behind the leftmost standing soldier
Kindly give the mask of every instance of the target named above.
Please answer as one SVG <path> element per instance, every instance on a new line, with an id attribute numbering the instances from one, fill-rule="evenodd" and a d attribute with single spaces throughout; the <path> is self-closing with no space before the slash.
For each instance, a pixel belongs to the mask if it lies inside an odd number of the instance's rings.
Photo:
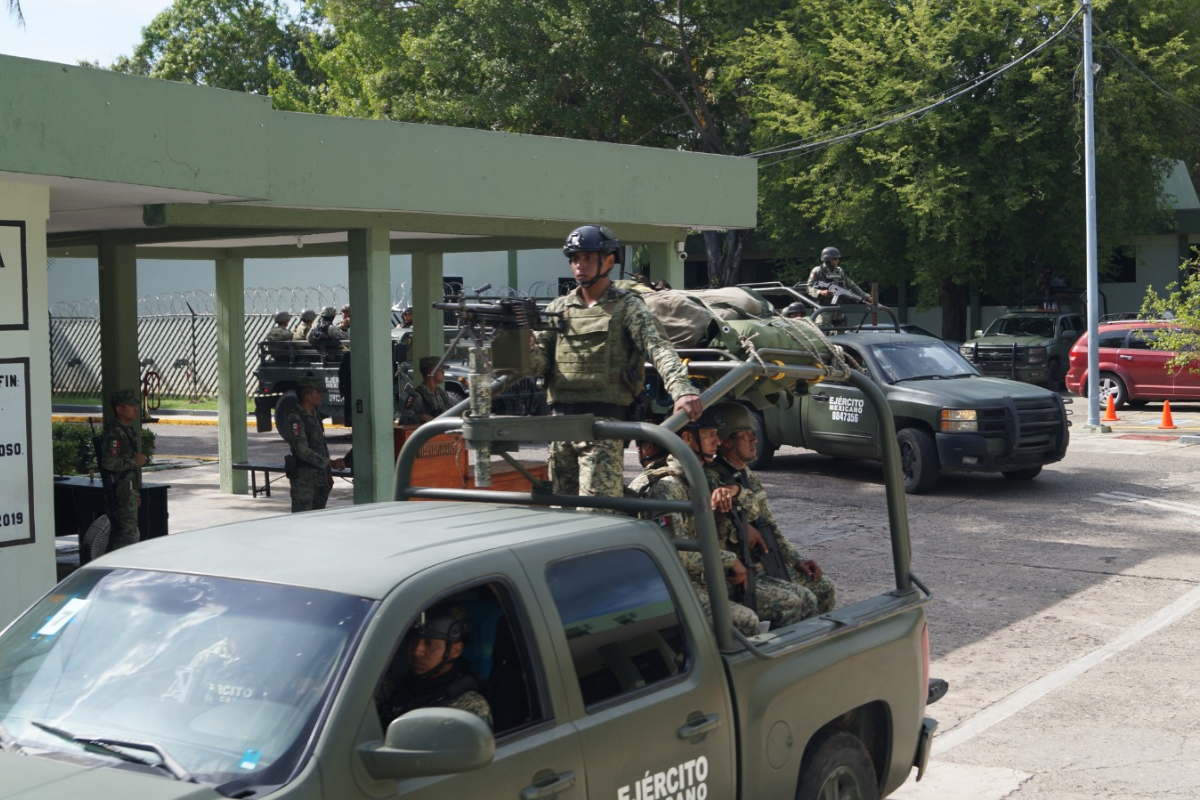
<path id="1" fill-rule="evenodd" d="M 118 389 L 140 391 L 138 259 L 132 245 L 114 245 L 103 237 L 98 257 L 101 403 L 104 420 L 109 420 L 113 415 L 109 395 Z"/>

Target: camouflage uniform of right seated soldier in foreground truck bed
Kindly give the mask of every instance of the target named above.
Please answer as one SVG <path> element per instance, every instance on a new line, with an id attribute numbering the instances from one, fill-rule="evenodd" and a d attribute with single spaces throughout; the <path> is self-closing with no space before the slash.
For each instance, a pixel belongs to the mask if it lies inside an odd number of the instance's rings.
<path id="1" fill-rule="evenodd" d="M 767 505 L 767 492 L 762 487 L 762 481 L 749 467 L 743 467 L 740 470 L 733 469 L 733 467 L 721 457 L 704 470 L 704 475 L 708 477 L 709 488 L 715 489 L 718 486 L 728 485 L 736 482 L 740 491 L 738 492 L 734 503 L 745 512 L 746 521 L 755 528 L 773 528 L 775 530 L 775 541 L 779 543 L 780 557 L 784 564 L 787 565 L 787 576 L 790 583 L 773 578 L 770 576 L 758 576 L 758 583 L 768 582 L 772 585 L 781 584 L 790 587 L 794 593 L 800 596 L 800 604 L 803 608 L 802 619 L 808 619 L 809 616 L 815 616 L 817 614 L 824 614 L 833 610 L 834 604 L 838 601 L 838 590 L 834 587 L 833 581 L 828 577 L 822 577 L 820 581 L 814 581 L 806 577 L 803 572 L 796 569 L 797 561 L 803 561 L 804 557 L 800 555 L 799 551 L 784 536 L 779 525 L 775 523 L 775 516 L 770 512 L 770 507 Z M 738 539 L 737 524 L 733 522 L 733 517 L 727 513 L 716 515 L 716 528 L 721 536 L 722 545 L 730 542 L 732 547 L 738 548 L 740 552 L 740 541 Z M 761 615 L 761 614 L 760 614 Z"/>

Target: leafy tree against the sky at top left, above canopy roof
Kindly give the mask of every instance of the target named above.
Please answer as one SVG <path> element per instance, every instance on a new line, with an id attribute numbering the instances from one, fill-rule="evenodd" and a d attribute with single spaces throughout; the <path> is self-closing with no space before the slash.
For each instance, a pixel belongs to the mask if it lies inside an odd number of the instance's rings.
<path id="1" fill-rule="evenodd" d="M 175 0 L 113 70 L 268 95 L 288 76 L 302 85 L 319 80 L 300 48 L 313 36 L 320 41 L 281 0 Z"/>

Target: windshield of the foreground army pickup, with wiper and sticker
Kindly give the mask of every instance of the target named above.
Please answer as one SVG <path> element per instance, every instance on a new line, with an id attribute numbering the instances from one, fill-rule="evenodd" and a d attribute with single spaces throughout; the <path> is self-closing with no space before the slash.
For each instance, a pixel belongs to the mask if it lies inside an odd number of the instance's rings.
<path id="1" fill-rule="evenodd" d="M 96 752 L 71 736 L 125 740 L 204 782 L 282 783 L 371 607 L 295 587 L 84 570 L 0 637 L 0 724 L 26 753 Z"/>

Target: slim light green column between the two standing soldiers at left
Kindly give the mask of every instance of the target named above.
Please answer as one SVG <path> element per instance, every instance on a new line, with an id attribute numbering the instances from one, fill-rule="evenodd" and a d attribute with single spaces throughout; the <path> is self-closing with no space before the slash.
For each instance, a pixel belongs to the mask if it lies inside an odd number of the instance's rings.
<path id="1" fill-rule="evenodd" d="M 217 270 L 217 457 L 223 494 L 245 494 L 246 473 L 246 282 L 245 261 L 220 258 Z"/>

